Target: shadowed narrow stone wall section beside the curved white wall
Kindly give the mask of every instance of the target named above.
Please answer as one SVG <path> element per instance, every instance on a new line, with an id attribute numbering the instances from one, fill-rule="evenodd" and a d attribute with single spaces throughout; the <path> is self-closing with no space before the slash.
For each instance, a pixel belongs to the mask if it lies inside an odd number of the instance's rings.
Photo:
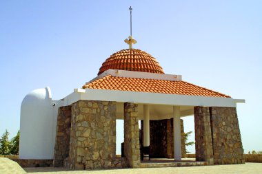
<path id="1" fill-rule="evenodd" d="M 63 160 L 69 155 L 70 128 L 71 106 L 60 107 L 57 116 L 53 166 L 63 166 Z"/>

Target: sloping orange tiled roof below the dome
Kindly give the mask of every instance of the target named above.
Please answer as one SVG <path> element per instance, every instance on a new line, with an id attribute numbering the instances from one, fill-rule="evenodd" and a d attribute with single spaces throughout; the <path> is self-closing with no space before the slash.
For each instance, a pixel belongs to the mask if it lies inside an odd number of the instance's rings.
<path id="1" fill-rule="evenodd" d="M 83 89 L 86 88 L 230 98 L 230 96 L 226 96 L 225 94 L 185 81 L 114 77 L 112 75 L 104 76 L 103 78 L 94 80 L 92 83 L 83 85 Z"/>

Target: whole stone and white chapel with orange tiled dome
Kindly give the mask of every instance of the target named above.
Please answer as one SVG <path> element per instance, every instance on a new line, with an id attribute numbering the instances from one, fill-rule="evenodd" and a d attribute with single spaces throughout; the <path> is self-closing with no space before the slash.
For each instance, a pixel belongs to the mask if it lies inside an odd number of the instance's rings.
<path id="1" fill-rule="evenodd" d="M 129 49 L 112 54 L 97 77 L 65 98 L 52 100 L 46 87 L 23 99 L 19 158 L 75 169 L 138 168 L 152 157 L 180 161 L 181 118 L 194 116 L 196 161 L 245 163 L 236 114 L 236 103 L 245 100 L 165 74 L 156 58 L 132 48 L 131 36 L 125 42 Z M 121 158 L 117 119 L 124 120 Z"/>

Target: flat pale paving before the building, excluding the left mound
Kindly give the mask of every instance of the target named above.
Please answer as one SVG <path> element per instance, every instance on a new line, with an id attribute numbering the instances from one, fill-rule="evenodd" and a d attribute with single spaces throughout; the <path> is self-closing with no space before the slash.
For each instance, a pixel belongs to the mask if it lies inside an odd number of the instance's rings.
<path id="1" fill-rule="evenodd" d="M 102 170 L 102 171 L 65 171 L 63 168 L 24 168 L 25 171 L 38 173 L 43 172 L 44 174 L 80 174 L 80 173 L 90 173 L 90 174 L 157 174 L 157 173 L 167 173 L 167 174 L 232 174 L 232 173 L 243 173 L 243 174 L 259 174 L 262 173 L 261 163 L 246 163 L 237 165 L 221 165 L 221 166 L 189 166 L 189 167 L 165 167 L 165 168 L 128 168 L 128 169 L 114 169 L 114 170 Z M 40 173 L 39 173 L 40 174 Z"/>

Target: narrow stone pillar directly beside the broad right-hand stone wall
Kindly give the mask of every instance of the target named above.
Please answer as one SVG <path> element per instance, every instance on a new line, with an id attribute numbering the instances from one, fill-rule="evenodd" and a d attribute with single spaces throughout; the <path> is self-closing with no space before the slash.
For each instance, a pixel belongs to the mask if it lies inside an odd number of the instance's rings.
<path id="1" fill-rule="evenodd" d="M 213 164 L 210 112 L 208 107 L 194 107 L 194 130 L 196 140 L 196 161 Z"/>

